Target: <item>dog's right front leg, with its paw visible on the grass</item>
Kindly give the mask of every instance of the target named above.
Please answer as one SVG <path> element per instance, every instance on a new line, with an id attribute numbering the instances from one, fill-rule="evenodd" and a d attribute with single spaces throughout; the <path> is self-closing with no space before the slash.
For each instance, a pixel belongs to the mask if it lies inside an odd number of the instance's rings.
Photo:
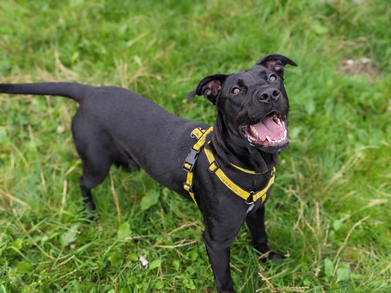
<path id="1" fill-rule="evenodd" d="M 246 223 L 250 229 L 253 245 L 262 254 L 269 251 L 267 245 L 267 236 L 265 230 L 265 206 L 261 206 L 256 210 L 253 210 L 247 215 Z M 276 252 L 269 252 L 268 259 L 281 259 L 283 256 Z M 265 261 L 262 258 L 262 261 Z"/>

